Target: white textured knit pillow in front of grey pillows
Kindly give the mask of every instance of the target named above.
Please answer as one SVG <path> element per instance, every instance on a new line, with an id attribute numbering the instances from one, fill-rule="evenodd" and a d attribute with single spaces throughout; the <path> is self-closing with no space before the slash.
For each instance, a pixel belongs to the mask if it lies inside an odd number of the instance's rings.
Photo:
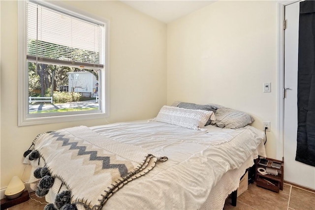
<path id="1" fill-rule="evenodd" d="M 163 106 L 158 112 L 158 116 L 155 120 L 199 130 L 206 124 L 212 114 L 212 111 Z"/>

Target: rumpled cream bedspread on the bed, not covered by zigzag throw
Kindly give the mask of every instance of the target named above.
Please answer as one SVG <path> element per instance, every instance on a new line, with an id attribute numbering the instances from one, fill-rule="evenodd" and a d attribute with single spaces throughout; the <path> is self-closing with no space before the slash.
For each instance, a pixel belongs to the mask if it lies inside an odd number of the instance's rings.
<path id="1" fill-rule="evenodd" d="M 252 160 L 266 156 L 263 132 L 249 125 L 239 129 L 208 125 L 192 130 L 140 120 L 90 129 L 111 140 L 168 157 L 150 173 L 118 190 L 103 210 L 222 209 L 226 196 L 238 187 Z M 46 195 L 48 202 L 53 203 L 57 190 L 53 187 Z"/>

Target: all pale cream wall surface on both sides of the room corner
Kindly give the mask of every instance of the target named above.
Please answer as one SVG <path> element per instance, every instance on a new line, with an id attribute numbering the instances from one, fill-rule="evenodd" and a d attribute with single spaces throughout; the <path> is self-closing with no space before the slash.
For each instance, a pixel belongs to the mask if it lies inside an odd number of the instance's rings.
<path id="1" fill-rule="evenodd" d="M 22 176 L 22 154 L 38 133 L 107 122 L 17 126 L 17 2 L 0 2 L 3 188 L 12 176 Z M 259 129 L 262 121 L 271 121 L 266 148 L 269 157 L 276 157 L 276 1 L 217 1 L 167 28 L 119 1 L 64 4 L 110 20 L 111 110 L 106 120 L 151 118 L 175 100 L 218 103 L 252 114 L 252 125 Z M 262 92 L 264 82 L 272 83 L 271 93 Z M 27 168 L 23 180 L 28 174 Z"/>

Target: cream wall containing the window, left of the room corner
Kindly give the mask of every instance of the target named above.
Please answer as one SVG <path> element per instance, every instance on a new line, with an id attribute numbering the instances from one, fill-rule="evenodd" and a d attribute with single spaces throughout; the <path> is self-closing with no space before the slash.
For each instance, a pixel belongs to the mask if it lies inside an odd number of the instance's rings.
<path id="1" fill-rule="evenodd" d="M 109 122 L 155 117 L 166 104 L 166 24 L 120 1 L 64 1 L 110 20 Z M 106 124 L 105 119 L 17 126 L 17 1 L 1 8 L 1 188 L 22 176 L 23 153 L 45 131 L 77 125 Z M 29 178 L 27 168 L 23 180 Z"/>

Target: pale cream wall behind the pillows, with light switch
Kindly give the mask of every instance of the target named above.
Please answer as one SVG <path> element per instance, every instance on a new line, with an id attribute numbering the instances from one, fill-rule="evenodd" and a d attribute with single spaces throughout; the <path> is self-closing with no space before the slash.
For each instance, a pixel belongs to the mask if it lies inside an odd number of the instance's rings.
<path id="1" fill-rule="evenodd" d="M 270 93 L 263 83 L 271 82 Z M 277 2 L 217 1 L 167 25 L 167 103 L 217 103 L 271 121 L 276 157 Z"/>

